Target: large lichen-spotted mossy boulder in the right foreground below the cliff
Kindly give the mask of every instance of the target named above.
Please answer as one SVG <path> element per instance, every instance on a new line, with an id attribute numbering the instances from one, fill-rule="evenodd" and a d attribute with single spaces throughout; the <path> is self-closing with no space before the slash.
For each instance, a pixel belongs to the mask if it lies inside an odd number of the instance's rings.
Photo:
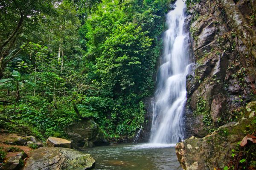
<path id="1" fill-rule="evenodd" d="M 176 145 L 178 161 L 184 170 L 223 169 L 232 158 L 232 149 L 236 149 L 247 133 L 256 129 L 256 102 L 250 102 L 245 116 L 239 122 L 230 122 L 213 133 L 198 139 L 192 136 Z"/>

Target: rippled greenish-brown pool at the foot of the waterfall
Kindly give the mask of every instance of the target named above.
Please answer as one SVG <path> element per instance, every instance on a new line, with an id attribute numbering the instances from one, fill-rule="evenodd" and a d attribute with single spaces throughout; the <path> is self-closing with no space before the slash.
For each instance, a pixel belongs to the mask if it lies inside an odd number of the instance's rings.
<path id="1" fill-rule="evenodd" d="M 96 160 L 95 170 L 182 170 L 175 144 L 116 144 L 84 152 Z"/>

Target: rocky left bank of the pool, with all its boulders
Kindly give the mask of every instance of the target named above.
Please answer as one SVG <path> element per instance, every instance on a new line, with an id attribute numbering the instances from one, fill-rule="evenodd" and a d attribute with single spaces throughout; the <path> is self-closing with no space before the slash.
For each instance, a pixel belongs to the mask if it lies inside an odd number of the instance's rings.
<path id="1" fill-rule="evenodd" d="M 90 170 L 95 167 L 93 157 L 78 149 L 110 144 L 99 125 L 93 120 L 81 120 L 70 124 L 66 131 L 70 140 L 49 136 L 46 142 L 41 142 L 34 136 L 2 130 L 0 147 L 7 155 L 3 155 L 0 169 Z"/>

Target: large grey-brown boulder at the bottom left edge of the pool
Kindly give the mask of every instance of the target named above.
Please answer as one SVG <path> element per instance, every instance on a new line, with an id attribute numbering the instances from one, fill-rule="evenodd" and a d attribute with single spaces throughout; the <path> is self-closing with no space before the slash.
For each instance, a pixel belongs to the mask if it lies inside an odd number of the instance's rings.
<path id="1" fill-rule="evenodd" d="M 90 154 L 63 147 L 40 147 L 34 150 L 23 170 L 90 170 L 95 160 Z"/>

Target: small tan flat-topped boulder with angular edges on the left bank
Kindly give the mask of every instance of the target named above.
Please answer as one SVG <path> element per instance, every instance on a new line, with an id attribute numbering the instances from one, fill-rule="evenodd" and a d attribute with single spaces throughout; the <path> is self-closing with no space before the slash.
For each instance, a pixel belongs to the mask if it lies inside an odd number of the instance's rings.
<path id="1" fill-rule="evenodd" d="M 71 148 L 71 141 L 62 139 L 62 138 L 55 138 L 50 136 L 47 139 L 47 146 L 48 147 L 66 147 L 66 148 Z"/>

